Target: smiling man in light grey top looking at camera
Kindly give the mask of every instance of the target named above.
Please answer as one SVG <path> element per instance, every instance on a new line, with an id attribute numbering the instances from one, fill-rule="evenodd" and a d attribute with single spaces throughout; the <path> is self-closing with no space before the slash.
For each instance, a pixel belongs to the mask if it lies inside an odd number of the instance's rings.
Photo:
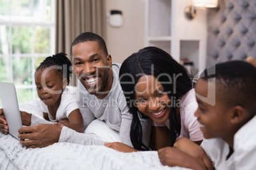
<path id="1" fill-rule="evenodd" d="M 73 41 L 70 53 L 79 79 L 76 101 L 83 115 L 85 134 L 132 146 L 129 138 L 132 116 L 118 80 L 120 64 L 112 63 L 103 38 L 84 32 Z M 69 138 L 72 133 L 63 137 Z"/>

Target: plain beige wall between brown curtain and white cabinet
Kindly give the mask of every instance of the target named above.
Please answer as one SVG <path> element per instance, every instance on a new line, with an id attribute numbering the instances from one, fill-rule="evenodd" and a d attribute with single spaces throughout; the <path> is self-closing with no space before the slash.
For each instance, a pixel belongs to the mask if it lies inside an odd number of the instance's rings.
<path id="1" fill-rule="evenodd" d="M 111 27 L 107 23 L 106 46 L 112 61 L 124 62 L 125 58 L 143 48 L 144 42 L 144 1 L 104 0 L 106 13 L 121 10 L 124 18 L 122 27 Z"/>

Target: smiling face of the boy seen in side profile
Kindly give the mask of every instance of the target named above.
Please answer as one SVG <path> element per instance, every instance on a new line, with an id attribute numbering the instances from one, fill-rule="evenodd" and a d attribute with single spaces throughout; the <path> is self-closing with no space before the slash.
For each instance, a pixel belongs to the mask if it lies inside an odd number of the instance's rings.
<path id="1" fill-rule="evenodd" d="M 195 87 L 196 94 L 203 96 L 204 98 L 208 97 L 216 100 L 215 105 L 212 106 L 196 96 L 198 108 L 195 112 L 195 116 L 197 117 L 197 121 L 200 123 L 200 128 L 204 134 L 204 138 L 222 138 L 225 140 L 230 137 L 231 114 L 229 113 L 231 113 L 231 109 L 225 106 L 227 101 L 220 100 L 222 93 L 218 89 L 217 84 L 216 94 L 211 94 L 215 91 L 213 89 L 215 88 L 215 84 L 213 84 L 213 82 L 208 82 L 204 79 L 199 79 L 199 81 L 197 81 Z"/>

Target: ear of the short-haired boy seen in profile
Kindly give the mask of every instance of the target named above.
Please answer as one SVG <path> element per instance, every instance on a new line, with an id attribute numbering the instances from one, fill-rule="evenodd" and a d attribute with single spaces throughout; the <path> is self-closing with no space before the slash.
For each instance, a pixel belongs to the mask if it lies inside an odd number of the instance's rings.
<path id="1" fill-rule="evenodd" d="M 240 124 L 247 119 L 245 109 L 241 106 L 235 106 L 232 108 L 231 123 Z"/>

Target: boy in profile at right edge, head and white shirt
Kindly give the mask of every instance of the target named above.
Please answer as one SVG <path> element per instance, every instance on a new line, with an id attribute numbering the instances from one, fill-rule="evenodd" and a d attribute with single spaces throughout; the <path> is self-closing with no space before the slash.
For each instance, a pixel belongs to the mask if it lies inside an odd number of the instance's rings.
<path id="1" fill-rule="evenodd" d="M 201 147 L 216 169 L 256 169 L 256 69 L 232 61 L 215 71 L 205 70 L 195 88 Z"/>

